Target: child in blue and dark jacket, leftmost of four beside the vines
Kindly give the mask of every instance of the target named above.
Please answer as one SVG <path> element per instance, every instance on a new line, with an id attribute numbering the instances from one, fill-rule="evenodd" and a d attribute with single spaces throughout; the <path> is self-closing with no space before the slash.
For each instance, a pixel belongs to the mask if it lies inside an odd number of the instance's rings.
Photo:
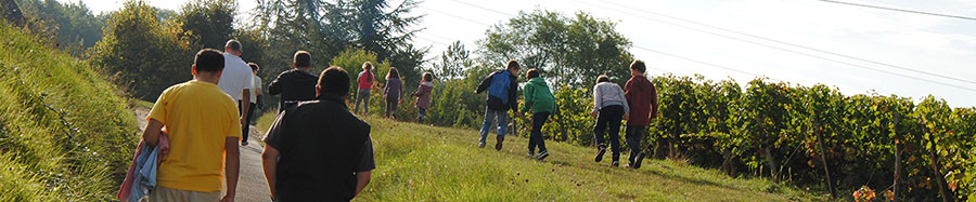
<path id="1" fill-rule="evenodd" d="M 501 150 L 502 142 L 505 140 L 505 126 L 509 123 L 508 110 L 511 109 L 515 116 L 522 117 L 522 113 L 516 112 L 518 104 L 515 103 L 518 98 L 518 78 L 516 75 L 518 75 L 518 69 L 521 68 L 515 59 L 509 60 L 504 70 L 492 72 L 475 90 L 475 94 L 488 91 L 488 107 L 485 109 L 485 122 L 481 123 L 481 137 L 478 139 L 479 148 L 485 147 L 488 131 L 491 130 L 493 122 L 498 121 L 498 137 L 496 138 L 495 149 Z"/>

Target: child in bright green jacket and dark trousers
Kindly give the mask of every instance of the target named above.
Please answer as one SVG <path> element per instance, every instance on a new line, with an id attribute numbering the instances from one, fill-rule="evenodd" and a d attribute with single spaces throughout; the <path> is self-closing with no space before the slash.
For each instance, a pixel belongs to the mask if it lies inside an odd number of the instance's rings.
<path id="1" fill-rule="evenodd" d="M 558 111 L 558 107 L 555 105 L 555 96 L 552 96 L 549 85 L 545 84 L 545 79 L 539 77 L 539 70 L 529 69 L 526 75 L 528 83 L 525 84 L 523 91 L 525 105 L 522 106 L 522 112 L 527 112 L 529 108 L 532 109 L 532 132 L 529 135 L 528 156 L 535 156 L 536 146 L 538 146 L 539 156 L 536 156 L 536 159 L 543 160 L 549 157 L 549 151 L 545 149 L 545 142 L 542 138 L 542 125 L 545 124 L 545 120 L 549 120 L 550 115 Z"/>

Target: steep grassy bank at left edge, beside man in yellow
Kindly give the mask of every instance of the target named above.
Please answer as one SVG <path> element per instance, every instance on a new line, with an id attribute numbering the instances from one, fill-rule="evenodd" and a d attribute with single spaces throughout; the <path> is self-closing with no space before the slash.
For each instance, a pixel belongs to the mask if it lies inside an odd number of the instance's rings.
<path id="1" fill-rule="evenodd" d="M 0 201 L 106 201 L 136 129 L 89 66 L 0 23 Z"/>

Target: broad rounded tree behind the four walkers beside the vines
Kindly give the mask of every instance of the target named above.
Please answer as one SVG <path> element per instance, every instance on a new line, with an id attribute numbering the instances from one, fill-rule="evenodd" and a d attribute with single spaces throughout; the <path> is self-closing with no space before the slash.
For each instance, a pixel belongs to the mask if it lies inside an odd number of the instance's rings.
<path id="1" fill-rule="evenodd" d="M 478 52 L 489 66 L 503 67 L 509 59 L 518 59 L 523 68 L 539 68 L 570 87 L 581 87 L 591 83 L 589 77 L 604 73 L 622 83 L 633 56 L 627 51 L 630 41 L 615 27 L 585 12 L 572 18 L 551 11 L 519 12 L 491 27 L 487 38 L 478 40 Z"/>

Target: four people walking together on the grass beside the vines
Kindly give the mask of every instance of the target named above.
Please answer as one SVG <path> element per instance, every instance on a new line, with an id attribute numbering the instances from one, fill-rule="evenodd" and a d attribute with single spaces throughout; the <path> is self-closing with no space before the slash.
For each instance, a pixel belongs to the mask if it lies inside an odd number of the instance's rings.
<path id="1" fill-rule="evenodd" d="M 488 133 L 492 127 L 497 127 L 495 149 L 501 150 L 508 132 L 508 110 L 516 117 L 530 112 L 532 115 L 531 127 L 529 133 L 528 156 L 538 160 L 549 157 L 549 150 L 545 148 L 545 140 L 542 137 L 542 126 L 549 120 L 550 116 L 558 113 L 558 106 L 555 103 L 545 79 L 541 77 L 538 69 L 529 69 L 526 71 L 526 80 L 528 81 L 523 87 L 524 105 L 518 110 L 517 106 L 517 75 L 521 70 L 517 60 L 510 60 L 505 69 L 497 70 L 489 75 L 475 93 L 488 92 L 485 109 L 485 120 L 481 123 L 478 138 L 478 147 L 484 148 L 487 144 Z M 596 118 L 593 126 L 593 136 L 596 143 L 596 156 L 594 160 L 601 162 L 606 153 L 607 140 L 609 142 L 611 154 L 613 158 L 612 165 L 619 166 L 620 161 L 620 122 L 627 121 L 627 130 L 625 132 L 627 146 L 630 148 L 630 162 L 627 164 L 631 169 L 640 169 L 641 161 L 644 159 L 641 139 L 646 133 L 647 125 L 657 115 L 657 90 L 644 76 L 646 66 L 642 60 L 634 60 L 630 64 L 631 78 L 620 87 L 616 83 L 609 82 L 607 76 L 599 76 L 596 84 L 593 86 L 593 110 L 591 116 Z M 529 111 L 531 110 L 531 111 Z M 497 124 L 497 126 L 496 126 Z M 606 138 L 606 136 L 609 138 Z M 536 149 L 538 148 L 538 154 Z"/>

